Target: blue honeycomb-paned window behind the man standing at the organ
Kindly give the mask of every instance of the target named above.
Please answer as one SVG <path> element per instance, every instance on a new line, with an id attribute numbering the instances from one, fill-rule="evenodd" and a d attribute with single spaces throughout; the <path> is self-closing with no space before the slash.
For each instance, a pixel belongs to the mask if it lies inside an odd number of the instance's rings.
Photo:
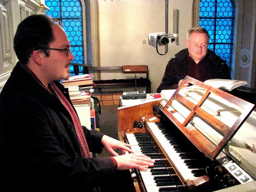
<path id="1" fill-rule="evenodd" d="M 235 6 L 233 0 L 200 0 L 199 26 L 210 35 L 209 49 L 232 67 Z"/>

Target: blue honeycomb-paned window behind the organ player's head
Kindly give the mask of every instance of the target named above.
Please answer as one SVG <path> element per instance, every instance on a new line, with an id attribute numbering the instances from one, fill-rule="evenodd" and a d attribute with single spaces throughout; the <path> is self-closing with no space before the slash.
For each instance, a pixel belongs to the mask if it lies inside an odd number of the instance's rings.
<path id="1" fill-rule="evenodd" d="M 73 62 L 84 64 L 83 10 L 80 0 L 45 0 L 45 3 L 50 8 L 46 14 L 58 18 L 62 23 L 75 58 Z M 70 66 L 70 75 L 75 74 L 83 74 L 83 67 Z"/>

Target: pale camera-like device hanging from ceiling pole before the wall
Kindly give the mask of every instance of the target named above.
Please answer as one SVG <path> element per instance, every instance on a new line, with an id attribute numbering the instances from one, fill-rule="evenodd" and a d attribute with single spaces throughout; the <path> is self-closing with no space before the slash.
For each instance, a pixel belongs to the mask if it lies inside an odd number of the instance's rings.
<path id="1" fill-rule="evenodd" d="M 167 44 L 175 44 L 179 45 L 179 38 L 178 34 L 165 34 L 165 33 L 151 33 L 148 34 L 148 44 L 157 47 L 157 46 L 163 46 Z"/>

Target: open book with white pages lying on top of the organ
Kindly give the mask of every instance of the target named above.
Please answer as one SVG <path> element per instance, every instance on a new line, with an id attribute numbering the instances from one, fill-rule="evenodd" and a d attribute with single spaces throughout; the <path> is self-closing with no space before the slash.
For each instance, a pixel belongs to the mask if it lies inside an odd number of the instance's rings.
<path id="1" fill-rule="evenodd" d="M 232 91 L 234 88 L 247 85 L 246 81 L 233 79 L 209 79 L 204 81 L 204 83 L 223 91 Z M 196 86 L 192 85 L 186 88 L 196 88 Z"/>

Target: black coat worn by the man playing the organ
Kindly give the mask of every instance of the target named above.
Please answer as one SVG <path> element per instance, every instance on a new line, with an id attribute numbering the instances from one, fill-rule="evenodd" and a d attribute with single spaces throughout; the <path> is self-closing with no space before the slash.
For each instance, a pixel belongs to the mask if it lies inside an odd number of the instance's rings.
<path id="1" fill-rule="evenodd" d="M 68 90 L 55 82 L 70 101 Z M 116 172 L 109 157 L 82 158 L 71 116 L 60 100 L 19 64 L 0 94 L 0 188 L 91 191 Z M 103 133 L 84 128 L 90 152 Z"/>

